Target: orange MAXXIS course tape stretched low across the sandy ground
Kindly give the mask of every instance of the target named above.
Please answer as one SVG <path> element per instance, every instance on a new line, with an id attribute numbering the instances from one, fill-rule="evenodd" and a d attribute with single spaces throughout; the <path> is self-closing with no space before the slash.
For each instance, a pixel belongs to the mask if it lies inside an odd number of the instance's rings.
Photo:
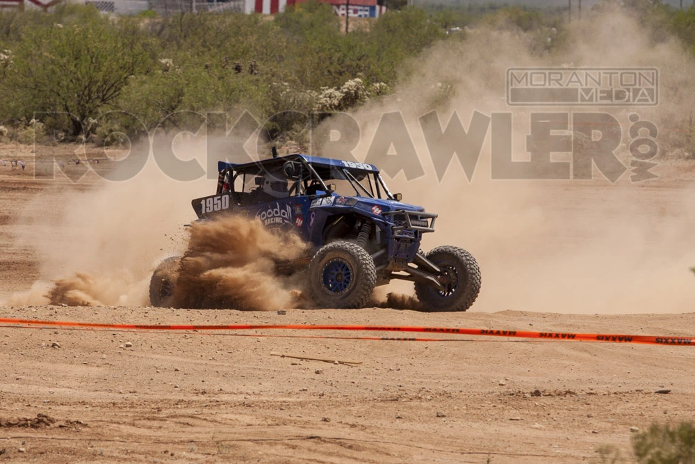
<path id="1" fill-rule="evenodd" d="M 450 327 L 413 327 L 413 326 L 316 326 L 316 325 L 142 325 L 142 324 L 116 324 L 116 323 L 92 323 L 72 321 L 36 321 L 33 319 L 6 319 L 0 318 L 0 323 L 22 324 L 28 326 L 50 327 L 79 327 L 79 328 L 106 328 L 127 330 L 363 330 L 377 332 L 421 332 L 421 333 L 445 333 L 457 335 L 485 335 L 490 337 L 518 337 L 537 338 L 546 340 L 566 340 L 578 342 L 611 342 L 611 343 L 637 343 L 674 346 L 695 346 L 692 337 L 654 336 L 654 335 L 616 335 L 599 333 L 562 333 L 562 332 L 529 332 L 525 330 L 490 330 L 478 328 L 450 328 Z M 405 340 L 404 340 L 405 341 Z"/>

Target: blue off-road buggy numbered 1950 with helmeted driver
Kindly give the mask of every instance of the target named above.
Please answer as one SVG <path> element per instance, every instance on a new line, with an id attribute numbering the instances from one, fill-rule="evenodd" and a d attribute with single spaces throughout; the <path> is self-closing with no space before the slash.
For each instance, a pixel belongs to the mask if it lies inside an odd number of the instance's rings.
<path id="1" fill-rule="evenodd" d="M 242 214 L 270 229 L 291 230 L 312 244 L 311 255 L 279 263 L 307 270 L 319 307 L 363 307 L 374 287 L 391 279 L 415 282 L 423 310 L 465 311 L 480 291 L 473 256 L 455 246 L 420 250 L 436 214 L 402 203 L 376 166 L 291 154 L 245 164 L 218 163 L 215 195 L 193 200 L 198 218 Z M 165 260 L 150 283 L 152 305 L 165 303 L 176 284 Z"/>

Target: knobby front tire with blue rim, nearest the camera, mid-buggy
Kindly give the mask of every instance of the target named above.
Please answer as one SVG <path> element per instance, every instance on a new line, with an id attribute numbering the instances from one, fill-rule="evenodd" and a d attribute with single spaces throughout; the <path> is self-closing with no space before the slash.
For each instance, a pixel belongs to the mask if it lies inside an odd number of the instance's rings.
<path id="1" fill-rule="evenodd" d="M 318 307 L 365 307 L 376 282 L 374 260 L 356 243 L 322 246 L 309 264 L 309 294 Z"/>

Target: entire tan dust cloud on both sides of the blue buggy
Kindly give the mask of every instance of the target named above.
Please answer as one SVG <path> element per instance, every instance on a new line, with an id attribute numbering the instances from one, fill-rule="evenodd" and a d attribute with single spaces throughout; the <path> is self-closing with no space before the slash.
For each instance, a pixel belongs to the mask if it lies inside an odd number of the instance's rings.
<path id="1" fill-rule="evenodd" d="M 539 38 L 509 26 L 480 27 L 465 40 L 427 50 L 416 72 L 392 95 L 354 112 L 361 131 L 354 156 L 365 159 L 382 114 L 400 111 L 424 175 L 407 179 L 400 172 L 391 179 L 391 190 L 439 213 L 437 232 L 425 235 L 425 250 L 450 244 L 477 258 L 483 285 L 473 311 L 692 311 L 693 170 L 684 161 L 673 161 L 677 156 L 662 143 L 673 132 L 673 122 L 695 108 L 692 58 L 676 40 L 653 44 L 635 19 L 619 12 L 587 15 L 569 26 L 564 39 L 553 34 Z M 543 51 L 539 41 L 548 39 L 565 40 L 565 45 Z M 488 133 L 471 182 L 455 160 L 440 181 L 418 125 L 418 117 L 433 109 L 441 125 L 456 111 L 464 127 L 474 111 L 511 112 L 514 161 L 529 159 L 525 136 L 530 111 L 607 111 L 627 129 L 632 111 L 621 108 L 507 106 L 505 72 L 523 66 L 657 67 L 660 104 L 635 111 L 660 129 L 661 152 L 653 172 L 661 178 L 633 183 L 628 170 L 612 184 L 594 168 L 591 181 L 492 179 Z M 188 152 L 196 157 L 201 150 Z M 627 162 L 624 144 L 616 155 Z M 555 153 L 552 160 L 568 162 L 571 154 Z M 38 198 L 25 209 L 22 223 L 28 227 L 23 237 L 40 260 L 42 280 L 6 304 L 147 305 L 156 263 L 186 253 L 188 236 L 181 224 L 193 215 L 186 205 L 212 191 L 214 181 L 175 182 L 149 163 L 129 182 Z M 193 227 L 175 304 L 219 307 L 233 302 L 249 309 L 301 305 L 300 294 L 292 290 L 295 282 L 269 272 L 274 257 L 293 255 L 299 244 L 277 248 L 283 241 L 266 236 L 256 223 L 229 221 Z M 218 248 L 221 243 L 227 248 Z M 411 285 L 394 282 L 377 289 L 375 305 L 407 307 L 413 303 L 411 294 Z"/>

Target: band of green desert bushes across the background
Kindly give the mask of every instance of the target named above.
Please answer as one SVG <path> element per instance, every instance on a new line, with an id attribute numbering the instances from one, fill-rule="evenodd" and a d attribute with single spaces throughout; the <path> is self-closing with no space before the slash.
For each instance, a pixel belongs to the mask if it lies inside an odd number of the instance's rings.
<path id="1" fill-rule="evenodd" d="M 659 0 L 621 6 L 605 0 L 594 6 L 601 8 L 625 8 L 648 26 L 653 40 L 676 35 L 695 55 L 693 8 L 681 11 Z M 465 28 L 480 25 L 539 36 L 555 28 L 562 38 L 566 10 L 410 8 L 394 1 L 389 13 L 347 34 L 331 6 L 313 2 L 275 18 L 113 17 L 76 5 L 52 13 L 5 11 L 0 142 L 26 141 L 36 132 L 48 140 L 112 143 L 120 134 L 137 137 L 157 127 L 197 129 L 202 113 L 239 108 L 261 120 L 297 112 L 270 125 L 272 136 L 293 137 L 306 123 L 300 113 L 346 110 L 379 98 L 407 79 L 427 47 L 466 40 Z M 558 53 L 564 46 L 566 40 L 554 40 L 532 52 Z"/>

